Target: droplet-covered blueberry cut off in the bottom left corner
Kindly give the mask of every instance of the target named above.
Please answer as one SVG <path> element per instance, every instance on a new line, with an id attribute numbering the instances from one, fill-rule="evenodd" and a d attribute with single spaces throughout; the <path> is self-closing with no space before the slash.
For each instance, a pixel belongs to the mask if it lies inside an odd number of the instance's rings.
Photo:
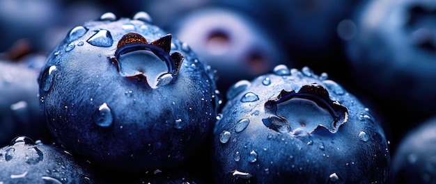
<path id="1" fill-rule="evenodd" d="M 0 163 L 0 183 L 100 183 L 83 160 L 25 136 L 0 148 Z"/>

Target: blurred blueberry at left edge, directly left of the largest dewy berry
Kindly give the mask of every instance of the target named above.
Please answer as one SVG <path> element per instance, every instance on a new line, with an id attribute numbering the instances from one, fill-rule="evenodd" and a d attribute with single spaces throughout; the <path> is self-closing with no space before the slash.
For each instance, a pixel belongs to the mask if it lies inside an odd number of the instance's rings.
<path id="1" fill-rule="evenodd" d="M 45 56 L 0 60 L 0 147 L 18 135 L 51 140 L 39 106 L 37 78 Z"/>

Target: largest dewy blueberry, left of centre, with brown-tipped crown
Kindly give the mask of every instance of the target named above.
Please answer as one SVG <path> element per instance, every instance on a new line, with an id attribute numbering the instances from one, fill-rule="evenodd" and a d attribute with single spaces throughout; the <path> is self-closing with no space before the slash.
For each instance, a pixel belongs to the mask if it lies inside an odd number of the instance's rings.
<path id="1" fill-rule="evenodd" d="M 163 44 L 169 51 L 171 43 L 171 54 L 184 56 L 178 69 L 164 49 L 143 43 L 140 37 L 149 42 L 171 39 L 149 24 L 144 13 L 134 19 L 107 13 L 72 28 L 49 56 L 39 80 L 40 106 L 56 139 L 96 165 L 130 172 L 180 165 L 212 133 L 219 106 L 214 73 L 188 44 L 176 38 Z M 117 49 L 122 39 L 127 44 Z M 135 52 L 139 47 L 154 48 L 171 61 L 166 63 L 171 76 L 156 84 L 151 74 L 163 69 L 164 62 L 144 59 L 153 54 Z M 131 57 L 123 59 L 123 54 Z M 148 73 L 141 75 L 144 71 Z"/>

